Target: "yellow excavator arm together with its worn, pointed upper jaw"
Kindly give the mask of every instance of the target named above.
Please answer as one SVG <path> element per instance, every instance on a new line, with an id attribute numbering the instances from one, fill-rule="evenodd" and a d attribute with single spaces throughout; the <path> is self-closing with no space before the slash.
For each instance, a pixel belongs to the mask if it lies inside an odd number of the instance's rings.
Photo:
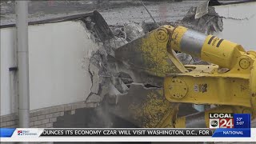
<path id="1" fill-rule="evenodd" d="M 156 127 L 208 127 L 209 113 L 252 114 L 255 118 L 256 52 L 182 26 L 161 26 L 121 48 L 115 51 L 126 55 L 120 59 L 164 78 L 168 101 L 214 105 L 181 118 L 177 118 L 178 104 L 172 105 Z M 183 66 L 174 50 L 211 64 Z"/>

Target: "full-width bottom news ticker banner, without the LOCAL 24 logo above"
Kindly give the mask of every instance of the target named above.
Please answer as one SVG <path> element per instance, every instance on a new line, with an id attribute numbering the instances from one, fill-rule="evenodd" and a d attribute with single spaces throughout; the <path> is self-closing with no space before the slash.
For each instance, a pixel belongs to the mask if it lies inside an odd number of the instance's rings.
<path id="1" fill-rule="evenodd" d="M 253 133 L 253 134 L 252 134 Z M 245 142 L 256 142 L 256 129 L 250 128 L 218 128 L 212 129 L 140 129 L 140 128 L 0 128 L 2 142 L 20 142 L 22 138 L 30 142 L 63 142 L 64 139 L 72 138 L 74 142 L 82 142 L 91 138 L 196 138 L 210 141 L 211 138 L 245 138 Z M 50 141 L 49 138 L 51 139 Z M 77 139 L 78 138 L 78 139 Z M 81 141 L 81 138 L 82 141 Z M 89 138 L 89 139 L 88 139 Z M 15 141 L 16 140 L 16 141 Z M 193 140 L 193 141 L 194 141 Z M 231 142 L 231 141 L 230 141 Z"/>

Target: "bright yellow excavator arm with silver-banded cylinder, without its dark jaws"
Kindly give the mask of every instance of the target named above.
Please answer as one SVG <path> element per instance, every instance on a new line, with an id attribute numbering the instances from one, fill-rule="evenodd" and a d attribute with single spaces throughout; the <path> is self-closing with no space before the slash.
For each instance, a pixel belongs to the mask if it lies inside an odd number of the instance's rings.
<path id="1" fill-rule="evenodd" d="M 212 65 L 185 66 L 189 72 L 166 74 L 165 97 L 170 102 L 217 105 L 205 112 L 176 119 L 175 127 L 191 127 L 194 121 L 209 126 L 209 113 L 252 114 L 255 118 L 256 53 L 213 35 L 185 27 L 164 26 L 170 31 L 171 49 L 190 54 Z M 161 29 L 161 28 L 160 28 Z"/>

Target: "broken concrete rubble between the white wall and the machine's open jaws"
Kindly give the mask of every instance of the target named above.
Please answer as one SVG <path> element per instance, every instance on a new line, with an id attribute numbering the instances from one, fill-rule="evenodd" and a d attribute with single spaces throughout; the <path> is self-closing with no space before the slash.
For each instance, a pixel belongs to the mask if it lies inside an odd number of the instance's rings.
<path id="1" fill-rule="evenodd" d="M 130 69 L 130 65 L 114 58 L 114 50 L 125 45 L 127 41 L 144 35 L 142 27 L 135 23 L 127 23 L 126 26 L 112 27 L 112 30 L 115 38 L 98 42 L 100 48 L 90 58 L 92 86 L 90 97 L 86 102 L 105 99 L 104 102 L 108 104 L 118 105 L 120 100 L 122 101 L 122 98 L 129 94 L 130 86 L 139 86 L 136 91 L 142 97 L 146 95 L 139 90 L 158 90 L 162 87 L 162 78 Z M 120 97 L 122 98 L 119 99 Z"/>

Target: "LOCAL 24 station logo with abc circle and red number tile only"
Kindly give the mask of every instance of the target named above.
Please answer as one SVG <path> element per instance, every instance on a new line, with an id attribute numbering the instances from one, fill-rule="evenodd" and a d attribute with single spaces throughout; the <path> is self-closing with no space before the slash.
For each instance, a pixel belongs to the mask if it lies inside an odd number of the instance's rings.
<path id="1" fill-rule="evenodd" d="M 209 128 L 234 128 L 234 115 L 232 113 L 210 113 Z"/>

